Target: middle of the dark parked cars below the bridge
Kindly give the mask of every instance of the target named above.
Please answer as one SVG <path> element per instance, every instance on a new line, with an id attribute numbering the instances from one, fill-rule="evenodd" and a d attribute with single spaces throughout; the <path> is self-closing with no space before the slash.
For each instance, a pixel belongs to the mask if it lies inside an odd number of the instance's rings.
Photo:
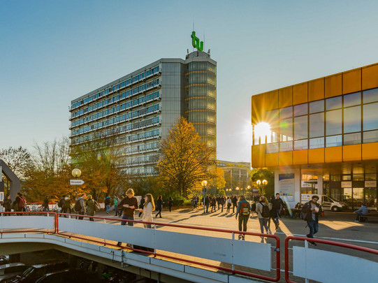
<path id="1" fill-rule="evenodd" d="M 59 261 L 54 263 L 36 264 L 31 266 L 23 273 L 15 275 L 7 280 L 3 280 L 5 283 L 34 283 L 47 273 L 57 272 L 59 270 L 68 270 L 68 263 Z"/>

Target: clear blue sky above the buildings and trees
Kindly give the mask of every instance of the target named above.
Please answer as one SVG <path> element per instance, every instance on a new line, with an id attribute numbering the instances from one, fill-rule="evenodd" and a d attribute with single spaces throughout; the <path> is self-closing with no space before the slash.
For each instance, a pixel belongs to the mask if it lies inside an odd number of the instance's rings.
<path id="1" fill-rule="evenodd" d="M 68 136 L 71 100 L 184 58 L 194 22 L 218 62 L 218 159 L 250 161 L 252 94 L 376 63 L 377 10 L 346 0 L 0 0 L 0 148 Z"/>

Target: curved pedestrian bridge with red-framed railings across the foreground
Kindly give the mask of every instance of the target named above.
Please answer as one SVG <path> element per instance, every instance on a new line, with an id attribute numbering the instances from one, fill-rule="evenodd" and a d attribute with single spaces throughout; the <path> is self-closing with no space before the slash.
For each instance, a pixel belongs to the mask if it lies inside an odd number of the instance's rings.
<path id="1" fill-rule="evenodd" d="M 3 212 L 0 254 L 59 249 L 161 282 L 283 282 L 282 273 L 286 282 L 370 282 L 378 277 L 375 249 L 326 240 L 314 240 L 324 245 L 309 248 L 307 238 L 287 237 L 281 257 L 276 235 L 245 232 L 245 240 L 237 240 L 239 231 L 162 223 L 143 228 L 139 221 L 120 226 L 118 219 L 89 222 L 75 216 Z M 331 246 L 337 252 L 328 251 Z"/>

